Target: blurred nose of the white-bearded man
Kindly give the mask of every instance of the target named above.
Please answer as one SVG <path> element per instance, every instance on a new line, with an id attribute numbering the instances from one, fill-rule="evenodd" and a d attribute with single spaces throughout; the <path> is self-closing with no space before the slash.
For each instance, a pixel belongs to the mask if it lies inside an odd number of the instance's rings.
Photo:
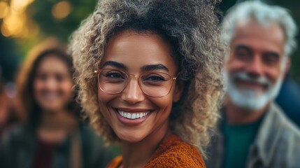
<path id="1" fill-rule="evenodd" d="M 246 71 L 250 76 L 263 76 L 263 66 L 264 65 L 262 64 L 262 60 L 260 59 L 259 55 L 255 55 L 255 57 L 252 59 L 252 62 L 247 63 Z"/>

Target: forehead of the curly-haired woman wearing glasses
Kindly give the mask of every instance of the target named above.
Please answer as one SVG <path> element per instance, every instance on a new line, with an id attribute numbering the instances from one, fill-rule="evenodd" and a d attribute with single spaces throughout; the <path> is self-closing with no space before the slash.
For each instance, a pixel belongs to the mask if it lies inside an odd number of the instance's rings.
<path id="1" fill-rule="evenodd" d="M 131 30 L 121 31 L 110 39 L 101 65 L 108 60 L 120 62 L 130 69 L 140 69 L 148 64 L 175 66 L 171 47 L 161 36 Z"/>

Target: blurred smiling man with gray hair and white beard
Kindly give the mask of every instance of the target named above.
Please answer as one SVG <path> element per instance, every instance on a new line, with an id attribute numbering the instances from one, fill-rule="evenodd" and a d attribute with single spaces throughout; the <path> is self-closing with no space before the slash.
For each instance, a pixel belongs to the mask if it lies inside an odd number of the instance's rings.
<path id="1" fill-rule="evenodd" d="M 227 96 L 207 167 L 300 167 L 300 131 L 273 102 L 296 47 L 294 20 L 285 8 L 245 1 L 221 29 Z"/>

